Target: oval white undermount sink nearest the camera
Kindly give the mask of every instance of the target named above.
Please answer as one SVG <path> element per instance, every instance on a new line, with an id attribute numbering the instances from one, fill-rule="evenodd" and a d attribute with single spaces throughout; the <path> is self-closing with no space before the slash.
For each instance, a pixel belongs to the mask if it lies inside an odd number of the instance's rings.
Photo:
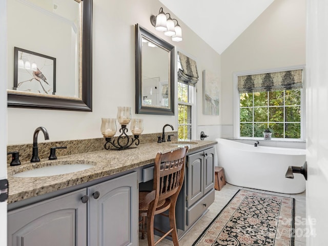
<path id="1" fill-rule="evenodd" d="M 12 175 L 13 177 L 32 178 L 32 177 L 47 177 L 61 174 L 74 173 L 95 167 L 95 163 L 91 161 L 55 161 L 45 162 L 44 165 L 34 167 L 30 170 L 19 171 Z M 23 169 L 24 167 L 22 167 Z"/>

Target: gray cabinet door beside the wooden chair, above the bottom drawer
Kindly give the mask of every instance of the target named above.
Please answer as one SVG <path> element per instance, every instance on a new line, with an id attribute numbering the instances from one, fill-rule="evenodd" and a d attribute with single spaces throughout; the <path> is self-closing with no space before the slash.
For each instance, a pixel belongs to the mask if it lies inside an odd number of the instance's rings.
<path id="1" fill-rule="evenodd" d="M 189 155 L 187 165 L 187 207 L 203 196 L 203 151 Z"/>

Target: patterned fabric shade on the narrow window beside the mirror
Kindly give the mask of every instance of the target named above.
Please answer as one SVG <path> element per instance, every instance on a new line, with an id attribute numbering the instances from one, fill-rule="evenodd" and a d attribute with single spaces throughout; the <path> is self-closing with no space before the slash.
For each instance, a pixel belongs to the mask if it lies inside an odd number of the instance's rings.
<path id="1" fill-rule="evenodd" d="M 189 86 L 195 86 L 198 81 L 196 61 L 178 51 L 181 68 L 178 70 L 178 81 Z"/>

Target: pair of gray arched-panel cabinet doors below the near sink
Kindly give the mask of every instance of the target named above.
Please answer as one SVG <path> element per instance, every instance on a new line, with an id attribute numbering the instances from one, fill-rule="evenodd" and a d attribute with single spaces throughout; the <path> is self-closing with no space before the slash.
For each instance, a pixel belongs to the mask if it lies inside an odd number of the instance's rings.
<path id="1" fill-rule="evenodd" d="M 137 245 L 137 187 L 133 172 L 9 211 L 8 245 Z"/>

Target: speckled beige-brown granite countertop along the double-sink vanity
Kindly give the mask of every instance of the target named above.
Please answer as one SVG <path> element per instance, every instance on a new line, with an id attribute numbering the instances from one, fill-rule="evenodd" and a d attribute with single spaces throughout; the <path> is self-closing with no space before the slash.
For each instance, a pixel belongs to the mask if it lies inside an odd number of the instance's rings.
<path id="1" fill-rule="evenodd" d="M 128 171 L 134 168 L 148 165 L 155 161 L 157 152 L 167 152 L 179 146 L 188 146 L 189 153 L 217 144 L 216 141 L 192 140 L 198 144 L 173 145 L 175 142 L 162 142 L 157 144 L 142 144 L 134 149 L 122 151 L 101 150 L 83 154 L 67 155 L 58 157 L 57 160 L 42 159 L 40 162 L 23 162 L 16 167 L 8 167 L 9 197 L 8 203 L 24 200 L 27 198 L 43 195 L 60 189 L 79 185 L 98 178 L 116 173 Z M 93 168 L 74 173 L 53 175 L 47 177 L 22 178 L 12 175 L 37 167 L 54 166 L 73 163 L 89 163 Z"/>

